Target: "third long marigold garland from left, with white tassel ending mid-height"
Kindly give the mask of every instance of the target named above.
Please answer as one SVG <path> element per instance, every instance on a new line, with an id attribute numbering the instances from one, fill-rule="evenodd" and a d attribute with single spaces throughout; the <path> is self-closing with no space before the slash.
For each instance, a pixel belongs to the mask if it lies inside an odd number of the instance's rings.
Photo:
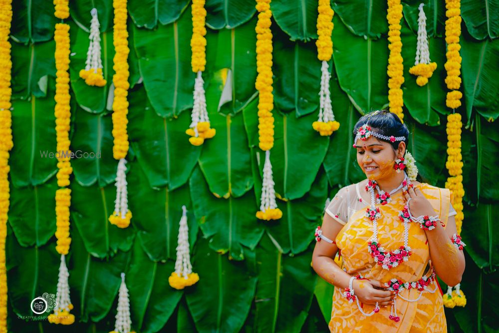
<path id="1" fill-rule="evenodd" d="M 113 99 L 113 157 L 118 160 L 116 169 L 116 199 L 114 201 L 114 212 L 109 217 L 109 222 L 118 228 L 126 228 L 130 225 L 132 212 L 128 209 L 128 193 L 126 182 L 125 157 L 128 153 L 128 31 L 126 29 L 127 20 L 127 0 L 113 0 L 114 7 L 114 30 L 113 44 L 116 50 L 114 54 L 114 99 Z"/>

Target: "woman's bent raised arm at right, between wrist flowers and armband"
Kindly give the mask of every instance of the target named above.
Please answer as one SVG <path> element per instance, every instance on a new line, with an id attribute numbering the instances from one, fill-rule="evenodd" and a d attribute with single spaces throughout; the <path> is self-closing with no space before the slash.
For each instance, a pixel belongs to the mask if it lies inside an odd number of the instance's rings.
<path id="1" fill-rule="evenodd" d="M 436 215 L 436 213 L 434 214 Z M 447 220 L 447 228 L 437 223 L 433 230 L 425 230 L 430 257 L 437 275 L 448 286 L 454 287 L 461 283 L 465 271 L 465 255 L 452 244 L 452 235 L 457 234 L 454 216 Z"/>

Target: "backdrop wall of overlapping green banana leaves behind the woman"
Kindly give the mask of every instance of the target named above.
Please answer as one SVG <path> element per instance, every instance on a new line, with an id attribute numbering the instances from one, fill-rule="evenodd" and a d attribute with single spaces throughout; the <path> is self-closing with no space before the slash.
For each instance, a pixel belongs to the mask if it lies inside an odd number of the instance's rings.
<path id="1" fill-rule="evenodd" d="M 402 41 L 409 149 L 424 181 L 447 177 L 444 78 L 445 3 L 425 0 L 430 52 L 438 68 L 424 87 L 408 74 L 416 52 L 418 1 L 405 0 Z M 217 135 L 194 147 L 190 124 L 195 73 L 187 0 L 129 0 L 129 202 L 124 230 L 107 221 L 115 196 L 109 103 L 112 1 L 70 1 L 71 150 L 74 159 L 69 254 L 73 327 L 24 321 L 30 301 L 54 293 L 54 41 L 52 1 L 13 1 L 14 148 L 7 236 L 8 321 L 12 332 L 109 332 L 120 272 L 127 273 L 136 332 L 327 332 L 332 286 L 310 267 L 313 231 L 326 198 L 363 174 L 350 148 L 361 114 L 387 103 L 386 2 L 336 0 L 331 95 L 341 123 L 331 138 L 312 130 L 319 108 L 317 1 L 273 1 L 275 146 L 272 165 L 283 217 L 262 222 L 263 155 L 257 148 L 257 92 L 252 0 L 207 0 L 208 112 Z M 90 9 L 99 12 L 106 87 L 78 77 L 88 47 Z M 462 289 L 466 308 L 446 309 L 450 332 L 497 332 L 499 308 L 499 0 L 462 0 L 463 157 L 468 244 Z M 112 90 L 111 90 L 112 91 Z M 224 93 L 223 93 L 224 92 Z M 306 160 L 307 163 L 303 163 Z M 188 207 L 194 271 L 185 291 L 168 285 L 181 207 Z M 445 288 L 445 286 L 444 286 Z"/>

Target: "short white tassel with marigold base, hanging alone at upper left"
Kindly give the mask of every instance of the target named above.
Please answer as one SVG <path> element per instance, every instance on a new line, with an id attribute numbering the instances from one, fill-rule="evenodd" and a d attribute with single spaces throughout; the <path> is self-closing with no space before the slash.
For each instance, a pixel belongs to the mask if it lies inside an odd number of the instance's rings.
<path id="1" fill-rule="evenodd" d="M 102 76 L 102 60 L 100 52 L 100 24 L 97 18 L 97 9 L 93 8 L 90 11 L 92 20 L 90 21 L 90 44 L 88 45 L 87 60 L 85 61 L 85 69 L 80 70 L 80 77 L 85 80 L 88 85 L 103 87 L 107 81 Z"/>

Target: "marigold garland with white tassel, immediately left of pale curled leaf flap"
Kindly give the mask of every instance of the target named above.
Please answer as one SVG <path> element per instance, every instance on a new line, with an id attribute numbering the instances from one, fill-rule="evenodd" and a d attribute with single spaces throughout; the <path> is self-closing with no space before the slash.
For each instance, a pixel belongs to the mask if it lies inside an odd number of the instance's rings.
<path id="1" fill-rule="evenodd" d="M 216 134 L 214 128 L 210 128 L 210 119 L 206 110 L 206 95 L 203 87 L 202 72 L 206 65 L 206 9 L 205 0 L 192 1 L 192 37 L 191 37 L 191 66 L 192 71 L 197 73 L 194 81 L 194 104 L 192 108 L 192 122 L 186 130 L 190 135 L 189 142 L 194 146 L 200 146 L 205 139 L 213 138 Z"/>

